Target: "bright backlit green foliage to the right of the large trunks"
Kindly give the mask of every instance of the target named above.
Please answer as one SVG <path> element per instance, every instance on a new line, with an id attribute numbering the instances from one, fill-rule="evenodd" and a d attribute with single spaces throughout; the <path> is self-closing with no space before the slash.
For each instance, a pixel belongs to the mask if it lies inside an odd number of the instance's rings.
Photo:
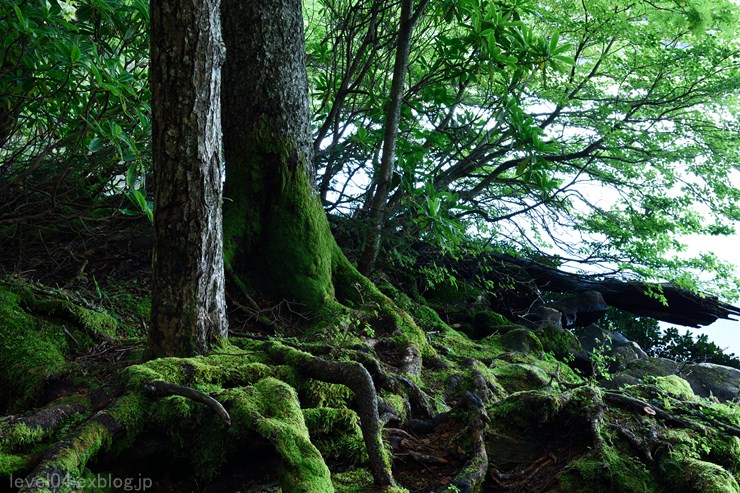
<path id="1" fill-rule="evenodd" d="M 704 269 L 717 275 L 705 286 L 734 298 L 716 256 L 676 252 L 682 236 L 730 234 L 740 218 L 737 15 L 726 1 L 430 2 L 408 65 L 388 251 L 490 236 L 693 289 Z M 372 0 L 307 10 L 330 212 L 370 212 L 397 16 Z"/>

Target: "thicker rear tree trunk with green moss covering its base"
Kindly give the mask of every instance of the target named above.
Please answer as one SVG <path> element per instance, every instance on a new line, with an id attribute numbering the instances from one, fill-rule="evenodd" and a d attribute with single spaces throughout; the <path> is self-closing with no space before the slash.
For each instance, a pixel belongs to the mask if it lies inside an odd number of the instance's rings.
<path id="1" fill-rule="evenodd" d="M 251 292 L 332 299 L 336 245 L 313 193 L 300 0 L 225 0 L 227 269 Z"/>

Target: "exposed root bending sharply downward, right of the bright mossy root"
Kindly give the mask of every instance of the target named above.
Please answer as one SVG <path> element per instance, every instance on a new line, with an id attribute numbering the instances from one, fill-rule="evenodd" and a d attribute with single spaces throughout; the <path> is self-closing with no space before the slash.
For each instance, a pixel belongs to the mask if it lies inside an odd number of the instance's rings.
<path id="1" fill-rule="evenodd" d="M 298 349 L 272 343 L 268 353 L 279 362 L 300 369 L 310 378 L 329 383 L 341 383 L 355 394 L 357 414 L 360 416 L 362 436 L 370 459 L 370 470 L 378 486 L 393 485 L 390 457 L 383 447 L 378 399 L 370 373 L 359 363 L 328 361 Z"/>

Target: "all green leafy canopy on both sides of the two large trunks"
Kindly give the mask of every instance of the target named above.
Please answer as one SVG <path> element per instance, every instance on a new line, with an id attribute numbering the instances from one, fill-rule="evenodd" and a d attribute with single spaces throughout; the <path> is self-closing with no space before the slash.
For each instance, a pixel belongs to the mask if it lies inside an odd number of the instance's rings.
<path id="1" fill-rule="evenodd" d="M 420 239 L 473 240 L 689 287 L 712 272 L 709 287 L 735 297 L 731 268 L 681 240 L 740 218 L 734 3 L 424 5 L 382 211 L 391 261 L 413 261 Z M 151 213 L 147 9 L 0 3 L 4 234 L 103 203 Z M 317 190 L 356 230 L 377 188 L 399 15 L 398 2 L 305 2 Z"/>

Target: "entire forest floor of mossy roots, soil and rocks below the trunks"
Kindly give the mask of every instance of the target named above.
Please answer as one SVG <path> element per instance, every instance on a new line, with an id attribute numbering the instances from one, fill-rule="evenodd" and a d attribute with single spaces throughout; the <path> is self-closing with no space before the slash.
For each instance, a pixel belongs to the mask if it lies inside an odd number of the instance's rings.
<path id="1" fill-rule="evenodd" d="M 4 257 L 3 487 L 63 473 L 119 480 L 89 491 L 381 491 L 386 460 L 397 491 L 417 493 L 738 491 L 736 404 L 675 376 L 602 388 L 571 368 L 561 332 L 470 304 L 497 324 L 473 340 L 387 279 L 412 323 L 365 306 L 316 330 L 300 307 L 232 295 L 228 346 L 145 362 L 151 242 L 136 227 L 99 238 Z M 345 375 L 360 367 L 375 417 Z"/>

